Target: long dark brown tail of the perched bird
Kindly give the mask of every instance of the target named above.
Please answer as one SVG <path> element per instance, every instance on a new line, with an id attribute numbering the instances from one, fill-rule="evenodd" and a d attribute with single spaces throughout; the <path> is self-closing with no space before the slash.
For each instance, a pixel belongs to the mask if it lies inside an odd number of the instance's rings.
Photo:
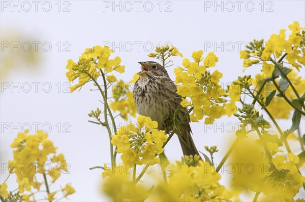
<path id="1" fill-rule="evenodd" d="M 180 130 L 177 131 L 179 142 L 184 155 L 199 155 L 199 152 L 194 144 L 192 135 L 187 126 L 182 126 Z"/>

